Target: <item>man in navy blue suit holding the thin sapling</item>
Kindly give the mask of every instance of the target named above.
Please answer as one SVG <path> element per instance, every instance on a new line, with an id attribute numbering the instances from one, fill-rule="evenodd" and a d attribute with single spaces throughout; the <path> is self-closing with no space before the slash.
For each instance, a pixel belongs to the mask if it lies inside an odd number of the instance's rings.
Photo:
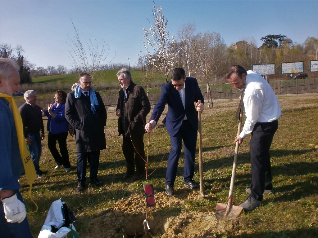
<path id="1" fill-rule="evenodd" d="M 150 122 L 145 129 L 148 133 L 156 126 L 166 103 L 168 103 L 167 116 L 163 119 L 171 140 L 171 150 L 168 159 L 166 173 L 166 194 L 172 196 L 174 183 L 181 153 L 182 140 L 184 150 L 184 185 L 191 189 L 198 186 L 192 180 L 194 174 L 194 157 L 197 145 L 198 117 L 194 102 L 198 111 L 204 109 L 204 98 L 196 78 L 186 77 L 182 68 L 171 71 L 171 82 L 161 87 L 161 96 L 152 112 Z"/>

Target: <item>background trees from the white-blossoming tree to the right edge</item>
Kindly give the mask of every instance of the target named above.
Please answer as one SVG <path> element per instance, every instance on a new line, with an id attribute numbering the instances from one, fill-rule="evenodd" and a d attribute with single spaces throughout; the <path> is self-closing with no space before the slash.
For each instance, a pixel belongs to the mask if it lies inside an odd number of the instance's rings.
<path id="1" fill-rule="evenodd" d="M 254 64 L 275 64 L 275 75 L 269 78 L 286 78 L 281 74 L 281 63 L 304 61 L 304 72 L 309 73 L 311 60 L 318 59 L 318 39 L 308 37 L 302 44 L 293 43 L 285 35 L 267 35 L 257 47 L 253 37 L 243 38 L 230 46 L 218 32 L 196 32 L 196 24 L 188 23 L 178 30 L 177 40 L 166 30 L 168 20 L 161 7 L 152 10 L 150 30 L 142 29 L 145 37 L 145 52 L 140 56 L 141 71 L 162 73 L 168 81 L 168 73 L 174 67 L 182 67 L 187 76 L 210 82 L 221 83 L 227 69 L 239 64 L 252 70 Z M 150 49 L 151 47 L 151 49 Z M 309 76 L 317 76 L 316 72 Z"/>

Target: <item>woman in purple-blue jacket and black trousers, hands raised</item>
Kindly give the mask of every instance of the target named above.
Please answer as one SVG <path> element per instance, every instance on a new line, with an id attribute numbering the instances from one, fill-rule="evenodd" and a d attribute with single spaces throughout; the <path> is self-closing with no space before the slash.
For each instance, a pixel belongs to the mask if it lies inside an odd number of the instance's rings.
<path id="1" fill-rule="evenodd" d="M 47 105 L 48 109 L 43 109 L 44 116 L 47 116 L 47 131 L 49 132 L 47 145 L 56 162 L 54 169 L 59 169 L 62 165 L 66 172 L 70 171 L 71 165 L 68 158 L 66 138 L 68 132 L 68 122 L 65 118 L 66 92 L 58 90 L 55 92 L 54 104 Z M 56 141 L 59 142 L 59 151 L 56 149 Z"/>

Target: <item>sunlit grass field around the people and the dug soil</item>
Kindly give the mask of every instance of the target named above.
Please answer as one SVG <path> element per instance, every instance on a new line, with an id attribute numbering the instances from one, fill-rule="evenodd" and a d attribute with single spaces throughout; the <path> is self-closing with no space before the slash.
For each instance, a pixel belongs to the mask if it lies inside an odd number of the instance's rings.
<path id="1" fill-rule="evenodd" d="M 265 195 L 259 208 L 248 213 L 242 212 L 233 221 L 219 221 L 220 224 L 230 222 L 230 229 L 202 237 L 318 237 L 318 149 L 315 149 L 318 144 L 318 97 L 279 97 L 279 101 L 283 114 L 270 150 L 275 194 Z M 233 140 L 237 133 L 237 122 L 234 120 L 237 106 L 238 101 L 215 102 L 214 108 L 205 108 L 202 114 L 204 186 L 209 199 L 187 201 L 173 208 L 174 212 L 164 211 L 162 214 L 173 217 L 194 211 L 214 213 L 217 202 L 227 203 L 235 148 Z M 163 117 L 164 115 L 161 119 Z M 47 149 L 45 138 L 42 143 L 40 167 L 42 170 L 48 170 L 48 174 L 35 181 L 32 197 L 39 210 L 28 215 L 34 237 L 38 236 L 51 203 L 59 198 L 67 203 L 79 219 L 75 222 L 79 237 L 106 237 L 98 230 L 88 233 L 91 219 L 99 216 L 121 198 L 142 193 L 142 181 L 122 179 L 126 172 L 126 163 L 114 113 L 107 114 L 105 135 L 107 149 L 101 151 L 98 174 L 104 186 L 97 188 L 88 183 L 89 188 L 81 194 L 75 191 L 77 154 L 74 138 L 67 138 L 72 166 L 69 173 L 65 173 L 63 169 L 53 169 L 56 164 Z M 148 136 L 145 136 L 145 144 L 147 138 Z M 234 205 L 245 201 L 245 189 L 249 188 L 251 182 L 249 139 L 250 136 L 247 136 L 239 150 Z M 170 140 L 166 129 L 155 129 L 150 138 L 149 160 L 153 161 L 156 156 L 158 158 L 149 164 L 149 171 L 153 171 L 156 166 L 158 169 L 149 179 L 153 181 L 158 192 L 164 191 L 169 150 Z M 164 154 L 166 155 L 160 162 Z M 182 153 L 175 183 L 177 190 L 183 188 L 183 163 Z M 199 181 L 198 169 L 196 162 L 195 181 Z M 87 170 L 89 174 L 89 168 Z M 27 210 L 35 210 L 27 194 L 26 178 L 22 177 L 20 183 Z M 187 237 L 187 234 L 182 237 Z"/>

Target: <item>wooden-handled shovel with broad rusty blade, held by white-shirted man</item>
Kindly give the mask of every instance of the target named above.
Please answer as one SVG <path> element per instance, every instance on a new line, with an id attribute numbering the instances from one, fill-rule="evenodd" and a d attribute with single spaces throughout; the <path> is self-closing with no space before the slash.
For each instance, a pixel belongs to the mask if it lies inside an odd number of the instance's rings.
<path id="1" fill-rule="evenodd" d="M 239 134 L 241 133 L 241 127 L 242 127 L 242 116 L 243 116 L 243 109 L 244 109 L 243 97 L 244 97 L 244 91 L 242 92 L 241 100 L 239 103 L 239 109 L 238 109 L 236 116 L 235 116 L 235 119 L 239 120 L 239 127 L 238 127 L 237 136 L 239 136 Z M 231 177 L 231 185 L 230 185 L 230 192 L 229 192 L 229 201 L 227 202 L 227 204 L 217 203 L 217 208 L 215 210 L 215 216 L 217 219 L 236 218 L 240 215 L 241 211 L 243 210 L 242 207 L 237 207 L 237 206 L 232 205 L 233 189 L 234 189 L 234 181 L 235 181 L 238 154 L 239 154 L 239 142 L 236 142 L 233 169 L 232 169 L 232 177 Z"/>

